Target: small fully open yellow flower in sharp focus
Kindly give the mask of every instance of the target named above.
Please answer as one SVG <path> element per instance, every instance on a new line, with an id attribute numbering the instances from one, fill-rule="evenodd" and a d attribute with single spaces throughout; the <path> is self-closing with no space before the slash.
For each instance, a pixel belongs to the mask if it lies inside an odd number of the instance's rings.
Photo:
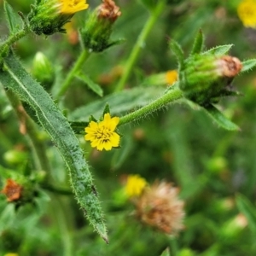
<path id="1" fill-rule="evenodd" d="M 90 124 L 85 127 L 86 141 L 90 141 L 92 148 L 111 150 L 111 148 L 119 147 L 120 136 L 114 130 L 119 123 L 119 117 L 111 118 L 109 113 L 104 114 L 104 119 L 96 123 L 90 121 Z"/>

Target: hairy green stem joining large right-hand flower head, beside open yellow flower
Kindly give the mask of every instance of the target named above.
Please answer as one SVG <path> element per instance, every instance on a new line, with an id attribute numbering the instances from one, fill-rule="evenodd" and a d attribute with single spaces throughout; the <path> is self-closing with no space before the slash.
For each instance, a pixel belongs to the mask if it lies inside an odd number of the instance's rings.
<path id="1" fill-rule="evenodd" d="M 141 119 L 144 116 L 146 116 L 148 113 L 153 113 L 154 111 L 165 107 L 166 104 L 177 101 L 182 97 L 183 97 L 183 92 L 179 90 L 177 87 L 173 88 L 163 96 L 160 96 L 158 99 L 154 100 L 154 102 L 149 103 L 147 106 L 143 108 L 139 108 L 136 111 L 132 113 L 128 113 L 125 116 L 121 117 L 119 120 L 119 125 L 125 125 L 126 123 L 135 121 L 137 119 Z"/>

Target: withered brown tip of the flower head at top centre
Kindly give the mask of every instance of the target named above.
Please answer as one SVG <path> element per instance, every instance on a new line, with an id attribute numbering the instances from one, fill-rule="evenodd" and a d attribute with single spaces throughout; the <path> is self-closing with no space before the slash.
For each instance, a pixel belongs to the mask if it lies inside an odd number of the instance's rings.
<path id="1" fill-rule="evenodd" d="M 103 0 L 103 3 L 98 7 L 98 17 L 115 21 L 121 12 L 119 7 L 115 5 L 113 0 Z"/>

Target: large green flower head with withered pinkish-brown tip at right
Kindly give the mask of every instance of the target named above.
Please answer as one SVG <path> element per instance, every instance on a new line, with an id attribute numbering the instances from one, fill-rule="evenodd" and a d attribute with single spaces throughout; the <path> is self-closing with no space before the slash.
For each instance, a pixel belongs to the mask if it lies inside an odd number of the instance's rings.
<path id="1" fill-rule="evenodd" d="M 180 70 L 180 89 L 189 100 L 208 106 L 228 94 L 241 67 L 241 61 L 230 55 L 190 55 Z"/>

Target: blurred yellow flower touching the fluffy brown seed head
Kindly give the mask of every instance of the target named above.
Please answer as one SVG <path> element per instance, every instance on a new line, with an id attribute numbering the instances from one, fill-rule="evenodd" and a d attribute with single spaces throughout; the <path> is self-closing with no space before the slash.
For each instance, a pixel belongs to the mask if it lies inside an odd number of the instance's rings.
<path id="1" fill-rule="evenodd" d="M 143 177 L 139 175 L 129 175 L 125 185 L 125 194 L 128 197 L 141 195 L 146 185 L 147 182 Z"/>

